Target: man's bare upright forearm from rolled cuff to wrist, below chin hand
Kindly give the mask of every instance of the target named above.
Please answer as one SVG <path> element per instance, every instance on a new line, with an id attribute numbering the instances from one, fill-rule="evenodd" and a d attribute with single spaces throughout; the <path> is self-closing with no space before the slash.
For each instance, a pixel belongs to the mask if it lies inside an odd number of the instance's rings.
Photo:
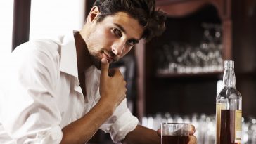
<path id="1" fill-rule="evenodd" d="M 62 129 L 61 144 L 86 143 L 90 140 L 101 124 L 113 114 L 113 109 L 110 107 L 100 100 L 84 117 L 65 126 Z"/>

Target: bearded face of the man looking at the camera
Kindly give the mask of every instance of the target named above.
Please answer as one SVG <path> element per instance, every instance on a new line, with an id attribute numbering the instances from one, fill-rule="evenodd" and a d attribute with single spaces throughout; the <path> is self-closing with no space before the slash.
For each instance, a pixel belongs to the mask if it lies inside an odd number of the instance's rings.
<path id="1" fill-rule="evenodd" d="M 94 20 L 86 40 L 91 60 L 98 69 L 102 58 L 108 63 L 119 60 L 139 42 L 142 34 L 138 20 L 124 12 L 107 16 L 98 23 Z"/>

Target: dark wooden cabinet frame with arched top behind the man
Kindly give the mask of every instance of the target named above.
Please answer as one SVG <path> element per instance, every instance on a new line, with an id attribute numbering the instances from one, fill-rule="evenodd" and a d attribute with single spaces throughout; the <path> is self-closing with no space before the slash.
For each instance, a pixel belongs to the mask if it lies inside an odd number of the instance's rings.
<path id="1" fill-rule="evenodd" d="M 156 74 L 155 49 L 170 41 L 178 41 L 198 46 L 203 37 L 201 24 L 215 23 L 222 25 L 222 58 L 231 59 L 231 0 L 157 0 L 157 7 L 167 13 L 167 30 L 153 41 L 141 41 L 136 48 L 138 63 L 138 116 L 169 110 L 169 112 L 214 112 L 216 81 L 222 79 L 223 71 L 198 73 Z M 207 94 L 205 94 L 207 93 Z M 165 96 L 165 105 L 158 101 L 158 96 Z M 196 96 L 195 98 L 192 98 Z M 174 99 L 180 103 L 169 105 Z M 188 100 L 189 99 L 189 100 Z M 205 103 L 205 108 L 186 107 Z M 159 103 L 155 103 L 159 102 Z M 155 105 L 155 106 L 153 106 Z"/>

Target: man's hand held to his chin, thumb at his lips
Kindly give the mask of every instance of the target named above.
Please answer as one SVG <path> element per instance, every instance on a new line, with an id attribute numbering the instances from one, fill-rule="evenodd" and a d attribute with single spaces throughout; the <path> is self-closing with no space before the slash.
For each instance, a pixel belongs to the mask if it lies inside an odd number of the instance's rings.
<path id="1" fill-rule="evenodd" d="M 110 72 L 110 73 L 109 73 Z M 101 59 L 101 81 L 100 81 L 100 94 L 101 100 L 113 106 L 113 110 L 125 98 L 126 81 L 122 76 L 120 70 L 112 69 L 109 71 L 108 60 Z"/>

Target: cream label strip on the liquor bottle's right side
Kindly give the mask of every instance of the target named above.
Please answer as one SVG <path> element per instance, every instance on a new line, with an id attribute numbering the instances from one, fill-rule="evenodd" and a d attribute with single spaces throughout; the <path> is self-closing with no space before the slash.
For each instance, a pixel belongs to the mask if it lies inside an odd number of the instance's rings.
<path id="1" fill-rule="evenodd" d="M 235 122 L 235 143 L 241 143 L 242 140 L 242 110 L 236 110 Z"/>

